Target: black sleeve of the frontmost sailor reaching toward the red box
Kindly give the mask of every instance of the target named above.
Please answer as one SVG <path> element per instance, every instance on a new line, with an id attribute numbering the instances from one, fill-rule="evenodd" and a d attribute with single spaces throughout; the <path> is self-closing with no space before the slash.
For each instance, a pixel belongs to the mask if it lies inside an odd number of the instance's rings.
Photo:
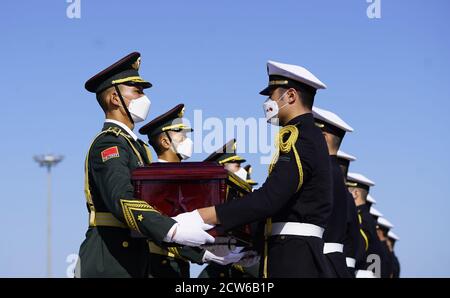
<path id="1" fill-rule="evenodd" d="M 305 179 L 310 168 L 304 160 L 301 164 Z M 296 193 L 299 181 L 299 167 L 293 150 L 280 154 L 272 173 L 259 189 L 243 198 L 216 206 L 221 229 L 230 230 L 276 214 Z"/>

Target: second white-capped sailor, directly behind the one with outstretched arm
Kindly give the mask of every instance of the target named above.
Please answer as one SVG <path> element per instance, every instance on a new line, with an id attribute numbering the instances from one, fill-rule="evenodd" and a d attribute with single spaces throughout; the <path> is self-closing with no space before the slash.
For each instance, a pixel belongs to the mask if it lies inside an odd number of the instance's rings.
<path id="1" fill-rule="evenodd" d="M 352 132 L 344 120 L 333 112 L 313 107 L 316 125 L 322 130 L 330 154 L 331 177 L 333 180 L 333 209 L 328 219 L 327 229 L 323 234 L 327 261 L 334 277 L 352 277 L 347 269 L 344 255 L 344 240 L 347 232 L 347 209 L 349 192 L 345 186 L 344 175 L 338 161 L 337 153 L 347 132 Z M 354 203 L 353 203 L 354 204 Z"/>

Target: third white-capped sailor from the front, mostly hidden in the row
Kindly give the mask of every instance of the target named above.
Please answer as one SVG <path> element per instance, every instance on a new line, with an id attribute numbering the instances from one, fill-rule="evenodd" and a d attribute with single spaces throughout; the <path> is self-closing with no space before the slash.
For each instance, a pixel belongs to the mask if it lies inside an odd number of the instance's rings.
<path id="1" fill-rule="evenodd" d="M 341 167 L 344 176 L 344 182 L 347 182 L 347 173 L 350 162 L 355 161 L 356 157 L 341 150 L 337 152 L 337 161 Z M 360 233 L 361 223 L 356 210 L 355 200 L 350 192 L 347 191 L 347 225 L 344 238 L 344 255 L 347 264 L 347 270 L 352 277 L 355 277 L 356 262 L 362 262 L 364 259 L 365 248 L 364 239 Z"/>

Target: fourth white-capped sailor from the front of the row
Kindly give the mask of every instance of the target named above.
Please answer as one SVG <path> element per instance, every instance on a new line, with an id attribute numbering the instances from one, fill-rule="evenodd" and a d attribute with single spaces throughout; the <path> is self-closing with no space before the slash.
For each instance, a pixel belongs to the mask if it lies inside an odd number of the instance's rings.
<path id="1" fill-rule="evenodd" d="M 359 173 L 348 173 L 347 186 L 355 199 L 356 208 L 361 221 L 361 235 L 365 241 L 366 254 L 363 262 L 356 263 L 356 277 L 380 277 L 381 259 L 383 249 L 376 232 L 376 221 L 370 214 L 370 207 L 367 205 L 367 195 L 370 188 L 375 186 L 375 182 Z M 372 265 L 372 255 L 377 255 L 380 263 Z M 374 271 L 368 270 L 374 268 Z"/>

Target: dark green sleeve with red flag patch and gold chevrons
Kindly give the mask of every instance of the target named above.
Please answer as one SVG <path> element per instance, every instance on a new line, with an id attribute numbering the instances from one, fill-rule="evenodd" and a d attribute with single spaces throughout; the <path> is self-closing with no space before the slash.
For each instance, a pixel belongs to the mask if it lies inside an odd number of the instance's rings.
<path id="1" fill-rule="evenodd" d="M 90 152 L 91 176 L 105 206 L 117 219 L 161 243 L 176 221 L 161 215 L 147 202 L 133 198 L 131 150 L 119 137 L 101 138 Z"/>

